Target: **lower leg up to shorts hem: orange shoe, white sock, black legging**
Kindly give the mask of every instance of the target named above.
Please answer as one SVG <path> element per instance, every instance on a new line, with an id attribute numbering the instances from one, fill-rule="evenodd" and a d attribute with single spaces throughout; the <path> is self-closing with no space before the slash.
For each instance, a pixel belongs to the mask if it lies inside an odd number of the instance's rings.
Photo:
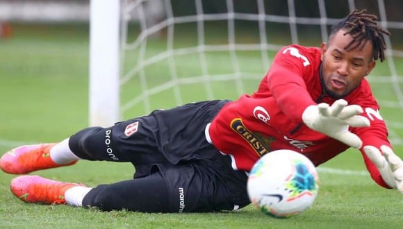
<path id="1" fill-rule="evenodd" d="M 167 185 L 161 173 L 95 188 L 26 175 L 14 178 L 10 189 L 27 203 L 99 207 L 106 211 L 168 212 Z"/>

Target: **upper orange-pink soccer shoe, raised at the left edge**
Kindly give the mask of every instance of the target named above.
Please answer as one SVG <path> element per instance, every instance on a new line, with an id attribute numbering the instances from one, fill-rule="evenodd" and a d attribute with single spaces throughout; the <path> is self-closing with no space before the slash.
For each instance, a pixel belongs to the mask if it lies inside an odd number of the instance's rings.
<path id="1" fill-rule="evenodd" d="M 50 158 L 49 151 L 52 144 L 36 144 L 20 146 L 4 153 L 0 158 L 0 168 L 6 173 L 26 174 L 40 169 L 51 169 L 75 164 L 56 164 Z"/>

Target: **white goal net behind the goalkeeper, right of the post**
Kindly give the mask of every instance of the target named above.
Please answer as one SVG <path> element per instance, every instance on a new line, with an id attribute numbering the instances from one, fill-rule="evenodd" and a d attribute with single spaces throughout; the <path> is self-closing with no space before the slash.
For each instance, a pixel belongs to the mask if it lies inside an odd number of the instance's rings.
<path id="1" fill-rule="evenodd" d="M 121 1 L 119 118 L 252 93 L 282 46 L 319 46 L 331 25 L 355 8 L 367 8 L 392 33 L 386 38 L 386 61 L 377 63 L 368 80 L 390 139 L 403 144 L 402 17 L 387 14 L 392 9 L 384 1 L 375 6 L 367 1 L 310 2 Z"/>

